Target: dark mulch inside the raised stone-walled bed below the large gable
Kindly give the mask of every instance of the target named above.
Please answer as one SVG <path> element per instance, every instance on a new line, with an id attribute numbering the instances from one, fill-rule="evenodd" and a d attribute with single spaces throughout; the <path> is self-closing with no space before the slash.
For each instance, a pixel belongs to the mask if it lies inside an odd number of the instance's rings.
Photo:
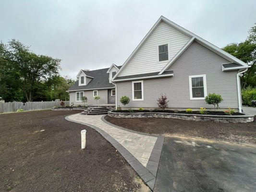
<path id="1" fill-rule="evenodd" d="M 131 113 L 129 110 L 114 110 L 112 112 L 116 113 Z M 179 113 L 179 114 L 195 114 L 195 115 L 200 115 L 199 111 L 193 111 L 192 113 L 187 113 L 186 111 L 173 111 L 173 110 L 133 110 L 133 113 Z M 227 115 L 223 111 L 206 111 L 207 115 Z M 243 113 L 233 113 L 232 115 L 244 115 Z M 230 116 L 230 115 L 229 115 Z"/>

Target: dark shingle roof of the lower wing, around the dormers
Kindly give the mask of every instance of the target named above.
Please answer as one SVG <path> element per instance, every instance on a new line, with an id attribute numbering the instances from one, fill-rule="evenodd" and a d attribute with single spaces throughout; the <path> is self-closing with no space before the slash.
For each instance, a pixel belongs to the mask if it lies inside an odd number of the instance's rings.
<path id="1" fill-rule="evenodd" d="M 121 66 L 118 66 L 118 68 Z M 86 76 L 93 77 L 93 79 L 86 85 L 78 86 L 78 80 L 71 86 L 68 91 L 74 90 L 86 90 L 86 89 L 102 89 L 102 88 L 110 88 L 115 87 L 114 84 L 109 83 L 109 73 L 107 71 L 109 68 L 93 70 L 93 71 L 85 71 L 82 70 Z"/>

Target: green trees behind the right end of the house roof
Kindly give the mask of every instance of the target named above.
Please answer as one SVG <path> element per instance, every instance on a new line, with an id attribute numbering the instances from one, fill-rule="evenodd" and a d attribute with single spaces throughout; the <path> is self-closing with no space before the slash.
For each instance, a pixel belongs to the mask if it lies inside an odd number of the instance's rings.
<path id="1" fill-rule="evenodd" d="M 245 41 L 231 43 L 222 49 L 251 65 L 248 71 L 241 77 L 241 87 L 245 88 L 249 85 L 256 87 L 256 26 L 249 30 Z"/>

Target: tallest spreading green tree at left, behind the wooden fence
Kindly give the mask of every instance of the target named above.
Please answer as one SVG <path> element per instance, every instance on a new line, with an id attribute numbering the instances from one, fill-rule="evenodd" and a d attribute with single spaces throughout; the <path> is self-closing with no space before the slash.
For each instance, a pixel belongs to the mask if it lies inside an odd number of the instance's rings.
<path id="1" fill-rule="evenodd" d="M 37 55 L 18 40 L 12 39 L 7 45 L 1 44 L 0 47 L 0 63 L 6 69 L 11 68 L 12 73 L 11 75 L 8 73 L 4 75 L 10 78 L 12 78 L 12 75 L 17 75 L 20 86 L 19 90 L 14 91 L 18 93 L 22 90 L 27 101 L 33 101 L 38 95 L 43 95 L 41 88 L 45 89 L 46 82 L 59 74 L 61 60 Z M 14 85 L 4 84 L 3 86 L 6 87 L 6 91 L 12 92 L 11 88 Z M 5 96 L 1 97 L 4 98 Z"/>

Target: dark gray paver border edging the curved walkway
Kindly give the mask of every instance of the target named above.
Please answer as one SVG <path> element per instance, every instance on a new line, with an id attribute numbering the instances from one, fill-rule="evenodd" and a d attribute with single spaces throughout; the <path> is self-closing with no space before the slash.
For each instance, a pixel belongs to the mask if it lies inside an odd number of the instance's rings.
<path id="1" fill-rule="evenodd" d="M 81 114 L 75 114 L 75 115 L 81 115 Z M 95 126 L 90 123 L 78 121 L 78 120 L 73 120 L 72 116 L 70 115 L 65 117 L 66 120 L 80 123 L 86 126 L 89 126 L 93 129 L 95 129 L 97 132 L 99 132 L 107 141 L 110 142 L 118 151 L 119 153 L 125 158 L 125 160 L 134 168 L 134 170 L 137 172 L 137 174 L 141 177 L 142 180 L 147 184 L 147 186 L 153 191 L 155 182 L 156 182 L 156 176 L 157 176 L 157 171 L 158 171 L 158 165 L 159 165 L 159 160 L 161 156 L 161 151 L 162 151 L 162 146 L 164 142 L 164 137 L 163 136 L 158 136 L 158 135 L 151 135 L 151 134 L 146 134 L 146 133 L 141 133 L 141 132 L 135 132 L 132 130 L 128 130 L 116 125 L 111 124 L 110 122 L 106 121 L 104 118 L 106 115 L 101 116 L 100 120 L 103 125 L 105 124 L 106 126 L 111 126 L 116 129 L 120 129 L 126 132 L 132 132 L 135 134 L 140 134 L 140 135 L 145 135 L 145 136 L 154 136 L 157 137 L 157 140 L 154 144 L 154 147 L 152 149 L 152 152 L 150 154 L 150 157 L 147 161 L 146 167 L 142 165 L 142 163 L 134 157 L 133 154 L 131 154 L 122 144 L 120 144 L 117 140 L 115 140 L 110 134 L 107 132 L 103 131 L 101 128 L 98 126 Z M 82 115 L 83 117 L 84 115 Z M 87 116 L 91 118 L 95 118 L 96 116 Z M 100 117 L 100 115 L 98 115 Z M 79 116 L 78 116 L 79 118 Z"/>

